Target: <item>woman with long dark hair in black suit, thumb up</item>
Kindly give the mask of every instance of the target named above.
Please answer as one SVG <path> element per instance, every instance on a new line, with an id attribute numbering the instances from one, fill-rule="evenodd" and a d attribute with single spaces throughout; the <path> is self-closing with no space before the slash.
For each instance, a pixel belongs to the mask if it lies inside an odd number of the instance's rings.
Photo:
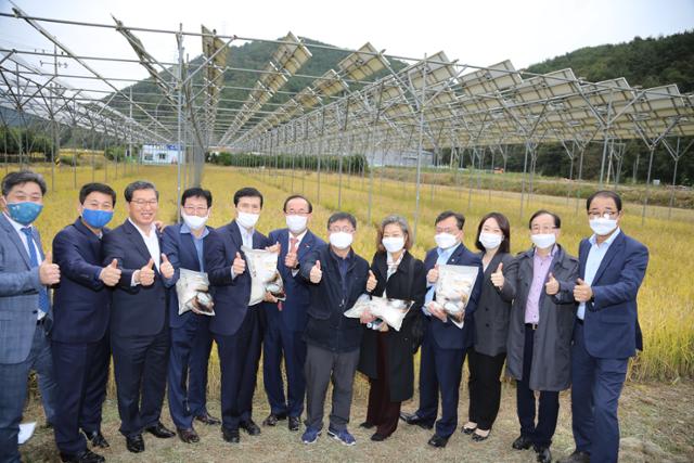
<path id="1" fill-rule="evenodd" d="M 509 254 L 511 226 L 502 214 L 490 213 L 477 228 L 476 247 L 483 252 L 481 295 L 475 311 L 475 346 L 468 357 L 470 408 L 463 433 L 475 441 L 489 437 L 501 400 L 501 369 L 506 358 L 511 304 L 515 296 L 516 261 Z"/>

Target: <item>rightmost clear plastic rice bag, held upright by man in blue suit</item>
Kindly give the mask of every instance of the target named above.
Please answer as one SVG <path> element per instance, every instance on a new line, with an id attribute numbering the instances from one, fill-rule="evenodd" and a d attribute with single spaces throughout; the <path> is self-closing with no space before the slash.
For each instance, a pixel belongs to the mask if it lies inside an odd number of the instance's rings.
<path id="1" fill-rule="evenodd" d="M 479 268 L 473 266 L 438 266 L 436 300 L 432 304 L 442 308 L 458 327 L 463 327 L 465 307 L 478 273 Z"/>

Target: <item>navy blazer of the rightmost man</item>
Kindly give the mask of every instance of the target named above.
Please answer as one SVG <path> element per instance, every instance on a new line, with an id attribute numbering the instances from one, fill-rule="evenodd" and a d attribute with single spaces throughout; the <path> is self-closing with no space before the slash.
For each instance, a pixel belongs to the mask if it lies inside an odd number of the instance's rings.
<path id="1" fill-rule="evenodd" d="M 586 278 L 591 244 L 578 246 L 579 274 Z M 643 350 L 637 295 L 648 266 L 648 248 L 619 232 L 603 257 L 591 284 L 593 301 L 586 304 L 586 350 L 597 358 L 625 359 Z"/>

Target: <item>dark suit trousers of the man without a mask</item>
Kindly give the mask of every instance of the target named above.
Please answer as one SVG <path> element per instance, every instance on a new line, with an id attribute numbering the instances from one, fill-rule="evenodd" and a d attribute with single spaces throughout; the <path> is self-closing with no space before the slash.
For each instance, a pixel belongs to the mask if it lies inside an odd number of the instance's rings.
<path id="1" fill-rule="evenodd" d="M 111 333 L 120 433 L 133 437 L 162 415 L 169 360 L 169 327 L 154 336 L 123 337 Z"/>

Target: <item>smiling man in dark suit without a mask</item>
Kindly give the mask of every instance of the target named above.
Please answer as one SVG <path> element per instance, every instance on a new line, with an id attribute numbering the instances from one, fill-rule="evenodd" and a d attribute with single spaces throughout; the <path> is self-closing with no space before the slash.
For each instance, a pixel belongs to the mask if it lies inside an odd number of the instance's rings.
<path id="1" fill-rule="evenodd" d="M 104 263 L 121 270 L 111 307 L 111 348 L 120 433 L 133 453 L 144 451 L 142 432 L 174 437 L 159 421 L 169 352 L 167 287 L 174 267 L 162 254 L 154 224 L 159 193 L 146 181 L 125 191 L 128 218 L 103 237 Z"/>

